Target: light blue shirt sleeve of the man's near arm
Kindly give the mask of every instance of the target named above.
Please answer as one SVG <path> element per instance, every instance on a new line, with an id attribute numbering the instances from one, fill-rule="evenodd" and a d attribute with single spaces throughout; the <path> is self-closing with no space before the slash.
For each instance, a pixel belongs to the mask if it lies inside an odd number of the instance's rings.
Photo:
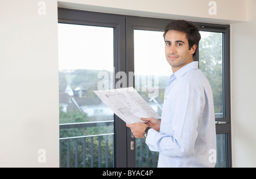
<path id="1" fill-rule="evenodd" d="M 151 151 L 168 156 L 187 157 L 192 155 L 197 139 L 197 126 L 201 113 L 202 99 L 195 86 L 182 82 L 164 99 L 160 132 L 150 129 L 146 144 Z"/>

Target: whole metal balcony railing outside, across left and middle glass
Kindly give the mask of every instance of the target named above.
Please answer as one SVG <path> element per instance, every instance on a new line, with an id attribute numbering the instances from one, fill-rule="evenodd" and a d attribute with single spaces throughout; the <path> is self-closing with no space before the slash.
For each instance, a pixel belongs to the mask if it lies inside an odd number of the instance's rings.
<path id="1" fill-rule="evenodd" d="M 114 126 L 113 120 L 100 122 L 60 124 L 60 130 L 92 129 L 92 127 Z M 95 128 L 94 128 L 95 129 Z M 91 130 L 93 131 L 93 130 Z M 77 135 L 79 132 L 70 132 Z M 158 153 L 151 152 L 144 143 L 136 139 L 136 166 L 156 167 Z M 93 168 L 114 167 L 114 133 L 68 136 L 60 138 L 60 167 Z"/>

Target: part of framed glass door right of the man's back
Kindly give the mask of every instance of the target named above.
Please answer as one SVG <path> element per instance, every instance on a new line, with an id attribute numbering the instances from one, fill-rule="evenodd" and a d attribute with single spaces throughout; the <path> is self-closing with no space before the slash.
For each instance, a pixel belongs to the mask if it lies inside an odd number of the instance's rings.
<path id="1" fill-rule="evenodd" d="M 224 168 L 230 161 L 230 99 L 229 99 L 229 65 L 226 31 L 200 31 L 199 68 L 208 78 L 212 87 L 214 112 L 217 132 L 216 167 Z"/>

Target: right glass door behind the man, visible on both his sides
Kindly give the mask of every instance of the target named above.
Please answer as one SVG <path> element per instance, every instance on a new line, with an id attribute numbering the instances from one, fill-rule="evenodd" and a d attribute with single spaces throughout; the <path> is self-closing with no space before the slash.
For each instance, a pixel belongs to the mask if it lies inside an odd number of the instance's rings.
<path id="1" fill-rule="evenodd" d="M 163 93 L 172 74 L 164 56 L 163 27 L 170 22 L 164 19 L 128 18 L 127 40 L 133 49 L 127 50 L 127 61 L 133 66 L 134 86 L 148 104 L 161 115 Z M 199 24 L 202 31 L 199 50 L 194 60 L 207 76 L 213 90 L 216 118 L 216 167 L 231 166 L 231 127 L 229 89 L 229 27 Z M 129 43 L 129 42 L 127 42 Z M 151 152 L 144 139 L 135 140 L 135 166 L 157 166 L 158 153 Z"/>

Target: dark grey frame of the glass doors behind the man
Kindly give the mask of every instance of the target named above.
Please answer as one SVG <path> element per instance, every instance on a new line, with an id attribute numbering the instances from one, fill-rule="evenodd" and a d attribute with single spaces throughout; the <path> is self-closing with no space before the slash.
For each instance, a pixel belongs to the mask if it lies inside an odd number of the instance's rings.
<path id="1" fill-rule="evenodd" d="M 114 28 L 114 75 L 117 72 L 134 72 L 134 30 L 163 31 L 171 19 L 145 18 L 117 14 L 96 13 L 82 10 L 58 8 L 58 22 Z M 222 32 L 223 36 L 223 118 L 216 121 L 216 134 L 227 134 L 226 149 L 228 167 L 232 166 L 231 119 L 230 119 L 230 25 L 199 23 L 200 31 Z M 195 56 L 199 61 L 199 51 Z M 200 66 L 200 64 L 199 64 Z M 127 75 L 127 81 L 129 76 Z M 115 79 L 115 83 L 118 79 Z M 134 76 L 133 76 L 134 82 Z M 134 86 L 134 84 L 133 84 Z M 135 139 L 125 122 L 114 115 L 114 160 L 115 167 L 135 167 Z M 135 147 L 134 147 L 135 148 Z"/>

